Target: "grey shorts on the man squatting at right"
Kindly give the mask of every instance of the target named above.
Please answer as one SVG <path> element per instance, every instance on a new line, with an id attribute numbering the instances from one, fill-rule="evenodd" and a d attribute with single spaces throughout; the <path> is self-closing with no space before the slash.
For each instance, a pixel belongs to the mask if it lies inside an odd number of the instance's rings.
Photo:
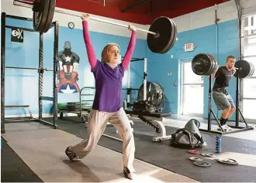
<path id="1" fill-rule="evenodd" d="M 224 110 L 227 108 L 235 108 L 233 99 L 230 97 L 230 94 L 224 94 L 220 91 L 213 91 L 213 100 L 216 103 L 218 110 Z"/>

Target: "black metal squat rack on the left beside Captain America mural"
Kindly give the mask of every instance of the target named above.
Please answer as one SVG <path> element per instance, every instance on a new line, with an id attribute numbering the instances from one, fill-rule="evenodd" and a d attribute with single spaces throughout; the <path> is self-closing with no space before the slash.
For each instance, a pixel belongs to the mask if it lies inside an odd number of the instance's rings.
<path id="1" fill-rule="evenodd" d="M 50 127 L 54 127 L 55 129 L 58 128 L 57 126 L 57 52 L 58 52 L 58 39 L 59 39 L 59 23 L 58 22 L 52 22 L 50 25 L 50 29 L 54 28 L 54 57 L 53 57 L 53 66 L 54 69 L 48 69 L 43 68 L 43 32 L 40 33 L 40 49 L 39 49 L 39 67 L 38 68 L 32 68 L 32 67 L 18 67 L 18 66 L 5 66 L 5 29 L 22 29 L 24 31 L 28 32 L 36 32 L 34 29 L 27 29 L 23 27 L 16 27 L 16 26 L 10 26 L 6 25 L 5 20 L 6 18 L 9 19 L 19 19 L 24 21 L 30 21 L 33 22 L 33 19 L 20 17 L 16 15 L 7 15 L 5 12 L 2 12 L 1 15 L 1 133 L 5 134 L 5 107 L 8 108 L 17 108 L 17 107 L 29 107 L 27 105 L 17 106 L 17 105 L 9 105 L 5 106 L 5 68 L 9 69 L 36 69 L 39 73 L 39 81 L 38 81 L 38 105 L 39 105 L 39 117 L 38 119 L 34 118 L 32 120 L 38 121 L 42 124 L 47 124 Z M 53 71 L 53 97 L 44 97 L 43 96 L 43 72 L 44 71 Z M 43 120 L 43 100 L 49 100 L 53 102 L 53 111 L 54 111 L 54 117 L 53 117 L 53 123 L 50 123 L 46 120 Z M 29 112 L 30 113 L 30 112 Z M 32 115 L 30 113 L 30 119 L 32 118 Z M 19 118 L 16 118 L 17 122 L 20 122 Z"/>

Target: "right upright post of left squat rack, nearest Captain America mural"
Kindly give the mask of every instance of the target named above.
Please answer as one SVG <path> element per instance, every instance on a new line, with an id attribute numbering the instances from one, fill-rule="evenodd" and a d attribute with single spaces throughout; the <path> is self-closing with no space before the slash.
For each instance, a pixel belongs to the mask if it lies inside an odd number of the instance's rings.
<path id="1" fill-rule="evenodd" d="M 59 22 L 54 22 L 54 127 L 57 128 L 57 54 L 59 40 Z"/>

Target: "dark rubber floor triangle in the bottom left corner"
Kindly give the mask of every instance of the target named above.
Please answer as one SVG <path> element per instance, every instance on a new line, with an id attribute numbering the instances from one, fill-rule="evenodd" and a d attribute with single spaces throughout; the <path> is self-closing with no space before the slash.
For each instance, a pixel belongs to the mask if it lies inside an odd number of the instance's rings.
<path id="1" fill-rule="evenodd" d="M 1 182 L 43 182 L 2 139 Z"/>

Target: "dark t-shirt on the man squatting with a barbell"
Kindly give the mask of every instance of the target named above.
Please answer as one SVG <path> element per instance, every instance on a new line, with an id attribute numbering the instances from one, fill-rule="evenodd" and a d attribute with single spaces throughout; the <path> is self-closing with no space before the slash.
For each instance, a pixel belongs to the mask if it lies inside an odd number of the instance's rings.
<path id="1" fill-rule="evenodd" d="M 230 86 L 230 79 L 232 77 L 232 70 L 228 70 L 226 66 L 220 66 L 215 74 L 215 83 L 213 90 L 227 93 L 226 86 Z"/>

